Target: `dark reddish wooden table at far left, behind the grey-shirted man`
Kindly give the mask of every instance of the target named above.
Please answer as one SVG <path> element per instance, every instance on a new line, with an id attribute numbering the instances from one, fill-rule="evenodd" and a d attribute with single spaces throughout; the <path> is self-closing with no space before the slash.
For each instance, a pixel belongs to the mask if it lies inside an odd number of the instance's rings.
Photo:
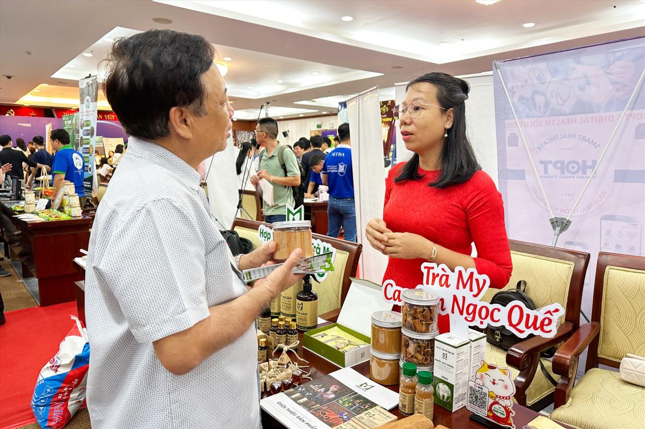
<path id="1" fill-rule="evenodd" d="M 15 218 L 14 203 L 0 202 L 2 237 L 12 260 L 22 265 L 22 277 L 38 280 L 39 305 L 45 307 L 75 300 L 74 282 L 84 275 L 72 260 L 87 249 L 92 218 L 25 222 Z M 35 298 L 35 297 L 34 297 Z"/>

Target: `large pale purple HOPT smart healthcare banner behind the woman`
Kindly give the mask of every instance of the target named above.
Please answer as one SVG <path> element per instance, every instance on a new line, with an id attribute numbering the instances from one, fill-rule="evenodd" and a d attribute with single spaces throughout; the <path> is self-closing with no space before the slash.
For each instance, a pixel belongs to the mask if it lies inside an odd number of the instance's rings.
<path id="1" fill-rule="evenodd" d="M 644 63 L 637 37 L 493 64 L 508 237 L 551 245 L 569 218 L 557 247 L 591 254 L 588 315 L 599 251 L 645 255 Z"/>

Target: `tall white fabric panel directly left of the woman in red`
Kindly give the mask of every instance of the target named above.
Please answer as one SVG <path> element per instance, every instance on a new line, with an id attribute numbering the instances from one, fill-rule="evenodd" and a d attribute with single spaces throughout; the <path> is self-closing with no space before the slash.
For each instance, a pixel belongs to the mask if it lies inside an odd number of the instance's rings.
<path id="1" fill-rule="evenodd" d="M 381 133 L 381 104 L 378 88 L 347 100 L 352 139 L 352 167 L 358 242 L 363 245 L 361 278 L 381 284 L 388 258 L 370 246 L 365 226 L 371 218 L 383 217 L 385 180 Z"/>

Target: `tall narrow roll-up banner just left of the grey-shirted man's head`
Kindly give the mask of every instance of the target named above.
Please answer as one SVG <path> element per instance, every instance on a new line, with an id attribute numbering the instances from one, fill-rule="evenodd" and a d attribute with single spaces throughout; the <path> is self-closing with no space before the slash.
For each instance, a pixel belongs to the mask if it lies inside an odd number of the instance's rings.
<path id="1" fill-rule="evenodd" d="M 92 194 L 94 183 L 94 148 L 96 138 L 97 100 L 99 81 L 96 76 L 86 77 L 79 81 L 79 152 L 85 161 L 85 193 Z M 71 136 L 70 136 L 71 137 Z"/>

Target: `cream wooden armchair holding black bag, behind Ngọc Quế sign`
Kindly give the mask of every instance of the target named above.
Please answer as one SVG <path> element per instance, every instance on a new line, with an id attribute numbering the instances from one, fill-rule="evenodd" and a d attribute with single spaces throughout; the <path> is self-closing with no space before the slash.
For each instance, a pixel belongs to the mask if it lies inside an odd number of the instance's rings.
<path id="1" fill-rule="evenodd" d="M 578 328 L 582 286 L 589 265 L 589 254 L 533 243 L 509 240 L 513 274 L 504 289 L 513 289 L 517 281 L 526 280 L 526 294 L 537 308 L 560 303 L 565 314 L 553 338 L 535 336 L 506 350 L 486 343 L 486 362 L 497 367 L 510 367 L 515 380 L 515 401 L 533 410 L 541 410 L 553 402 L 555 387 L 542 373 L 542 365 L 557 380 L 551 361 L 540 353 L 570 338 Z M 490 302 L 498 289 L 489 289 L 482 301 Z"/>

